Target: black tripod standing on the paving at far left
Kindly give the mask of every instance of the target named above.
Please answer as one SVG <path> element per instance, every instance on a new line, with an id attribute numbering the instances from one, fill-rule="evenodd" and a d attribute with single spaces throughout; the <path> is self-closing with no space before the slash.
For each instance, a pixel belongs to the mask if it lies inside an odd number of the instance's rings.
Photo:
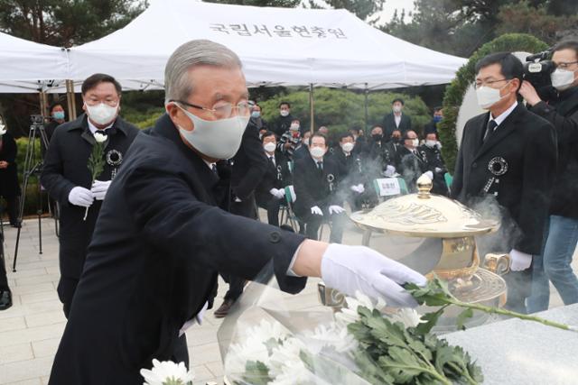
<path id="1" fill-rule="evenodd" d="M 31 176 L 36 175 L 38 180 L 38 209 L 36 214 L 38 215 L 38 240 L 39 240 L 39 253 L 42 254 L 42 190 L 40 185 L 40 174 L 42 173 L 42 158 L 40 160 L 36 159 L 36 151 L 34 144 L 36 142 L 36 137 L 40 135 L 41 145 L 44 148 L 48 148 L 48 138 L 46 137 L 46 132 L 44 131 L 44 118 L 42 115 L 31 115 L 32 124 L 30 125 L 30 131 L 28 133 L 28 144 L 26 146 L 26 157 L 24 159 L 24 172 L 23 172 L 23 183 L 22 183 L 22 194 L 20 199 L 20 211 L 18 212 L 18 233 L 16 234 L 16 246 L 14 248 L 14 263 L 12 265 L 12 270 L 16 271 L 16 259 L 18 258 L 18 245 L 20 244 L 20 233 L 22 231 L 22 221 L 24 215 L 24 203 L 26 202 L 26 189 L 28 188 L 28 180 Z"/>

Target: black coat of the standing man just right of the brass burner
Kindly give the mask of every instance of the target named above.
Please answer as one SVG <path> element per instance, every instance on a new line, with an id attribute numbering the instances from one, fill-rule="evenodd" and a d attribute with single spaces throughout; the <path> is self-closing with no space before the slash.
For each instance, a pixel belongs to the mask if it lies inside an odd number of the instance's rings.
<path id="1" fill-rule="evenodd" d="M 468 206 L 495 197 L 505 209 L 502 226 L 511 218 L 520 232 L 508 247 L 539 254 L 555 176 L 554 127 L 520 104 L 483 142 L 488 120 L 489 113 L 475 116 L 463 129 L 452 197 Z"/>

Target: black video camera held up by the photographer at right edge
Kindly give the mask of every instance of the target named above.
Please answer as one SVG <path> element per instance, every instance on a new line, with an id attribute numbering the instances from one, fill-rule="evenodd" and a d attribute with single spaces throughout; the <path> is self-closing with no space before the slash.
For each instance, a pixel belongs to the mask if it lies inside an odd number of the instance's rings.
<path id="1" fill-rule="evenodd" d="M 528 56 L 524 64 L 524 80 L 536 88 L 542 100 L 551 100 L 556 95 L 550 78 L 556 67 L 555 62 L 549 60 L 551 54 L 552 49 L 543 50 Z"/>

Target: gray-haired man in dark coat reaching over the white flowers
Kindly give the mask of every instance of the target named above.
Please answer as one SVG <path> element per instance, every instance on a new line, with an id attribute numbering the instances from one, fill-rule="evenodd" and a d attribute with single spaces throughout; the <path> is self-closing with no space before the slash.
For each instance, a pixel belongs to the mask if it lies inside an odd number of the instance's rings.
<path id="1" fill-rule="evenodd" d="M 184 43 L 164 86 L 166 114 L 136 137 L 98 216 L 50 385 L 140 385 L 153 359 L 188 364 L 182 333 L 201 320 L 217 271 L 252 280 L 267 268 L 290 293 L 321 276 L 347 295 L 416 305 L 400 284 L 425 278 L 378 252 L 306 240 L 221 208 L 230 177 L 219 160 L 238 151 L 250 114 L 232 50 Z"/>

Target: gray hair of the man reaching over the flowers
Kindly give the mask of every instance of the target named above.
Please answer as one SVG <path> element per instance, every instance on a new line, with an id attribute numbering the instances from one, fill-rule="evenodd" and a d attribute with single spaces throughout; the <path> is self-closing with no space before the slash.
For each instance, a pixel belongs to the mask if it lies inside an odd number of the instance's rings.
<path id="1" fill-rule="evenodd" d="M 172 52 L 164 68 L 164 103 L 187 100 L 193 91 L 189 69 L 195 66 L 240 69 L 241 60 L 232 50 L 210 40 L 193 40 Z"/>

